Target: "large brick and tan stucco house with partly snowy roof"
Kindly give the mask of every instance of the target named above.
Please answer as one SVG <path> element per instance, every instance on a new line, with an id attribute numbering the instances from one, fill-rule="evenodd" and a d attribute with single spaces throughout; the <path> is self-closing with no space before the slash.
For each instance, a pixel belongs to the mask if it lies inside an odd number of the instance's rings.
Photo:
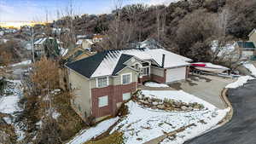
<path id="1" fill-rule="evenodd" d="M 165 49 L 105 50 L 66 65 L 74 110 L 84 120 L 114 115 L 139 84 L 188 78 L 189 58 Z"/>

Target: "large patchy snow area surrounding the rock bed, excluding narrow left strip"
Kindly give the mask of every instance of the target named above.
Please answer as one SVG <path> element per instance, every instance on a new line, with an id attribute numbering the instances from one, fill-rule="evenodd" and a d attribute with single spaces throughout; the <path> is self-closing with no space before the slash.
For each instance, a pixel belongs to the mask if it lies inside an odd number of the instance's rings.
<path id="1" fill-rule="evenodd" d="M 201 135 L 207 130 L 213 129 L 230 110 L 229 108 L 220 110 L 212 104 L 183 91 L 143 90 L 143 95 L 160 99 L 169 98 L 175 101 L 198 102 L 203 104 L 205 108 L 191 112 L 166 112 L 143 107 L 134 101 L 129 101 L 126 103 L 129 114 L 111 131 L 111 133 L 115 130 L 123 132 L 125 144 L 144 143 L 164 135 L 165 132 L 169 133 L 189 124 L 195 124 L 190 129 L 177 134 L 177 138 L 171 141 L 176 144 L 183 143 L 183 141 L 187 141 L 195 135 Z"/>

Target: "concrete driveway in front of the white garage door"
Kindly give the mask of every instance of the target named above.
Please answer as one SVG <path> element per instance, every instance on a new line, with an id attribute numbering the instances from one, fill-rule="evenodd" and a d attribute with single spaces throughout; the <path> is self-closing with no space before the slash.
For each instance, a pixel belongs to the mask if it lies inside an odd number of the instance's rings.
<path id="1" fill-rule="evenodd" d="M 224 101 L 219 95 L 227 84 L 236 81 L 231 78 L 221 78 L 208 75 L 193 75 L 187 81 L 169 84 L 173 89 L 183 89 L 183 91 L 195 95 L 204 101 L 212 103 L 215 107 L 224 109 Z"/>

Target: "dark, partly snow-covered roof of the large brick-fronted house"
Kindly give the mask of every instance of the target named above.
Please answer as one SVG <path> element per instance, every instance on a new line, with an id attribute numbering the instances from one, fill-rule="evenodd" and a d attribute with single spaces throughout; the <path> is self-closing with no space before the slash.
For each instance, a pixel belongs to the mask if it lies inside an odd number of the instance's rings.
<path id="1" fill-rule="evenodd" d="M 163 61 L 163 55 L 165 60 Z M 165 49 L 119 49 L 105 50 L 82 60 L 77 60 L 66 66 L 86 78 L 97 78 L 102 76 L 115 76 L 126 67 L 125 61 L 132 57 L 137 60 L 149 60 L 155 66 L 172 68 L 177 66 L 188 66 L 189 58 L 174 54 Z"/>

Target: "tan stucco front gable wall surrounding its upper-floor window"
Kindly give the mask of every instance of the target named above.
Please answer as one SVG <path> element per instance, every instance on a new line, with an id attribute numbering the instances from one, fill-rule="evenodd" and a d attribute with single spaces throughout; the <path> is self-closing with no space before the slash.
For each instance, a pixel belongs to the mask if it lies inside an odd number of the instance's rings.
<path id="1" fill-rule="evenodd" d="M 118 73 L 117 77 L 113 77 L 113 85 L 121 84 L 122 74 L 125 74 L 125 73 L 131 73 L 131 83 L 137 82 L 137 72 L 134 70 L 131 70 L 131 68 L 129 67 L 126 67 L 125 69 L 123 69 L 121 72 Z"/>

